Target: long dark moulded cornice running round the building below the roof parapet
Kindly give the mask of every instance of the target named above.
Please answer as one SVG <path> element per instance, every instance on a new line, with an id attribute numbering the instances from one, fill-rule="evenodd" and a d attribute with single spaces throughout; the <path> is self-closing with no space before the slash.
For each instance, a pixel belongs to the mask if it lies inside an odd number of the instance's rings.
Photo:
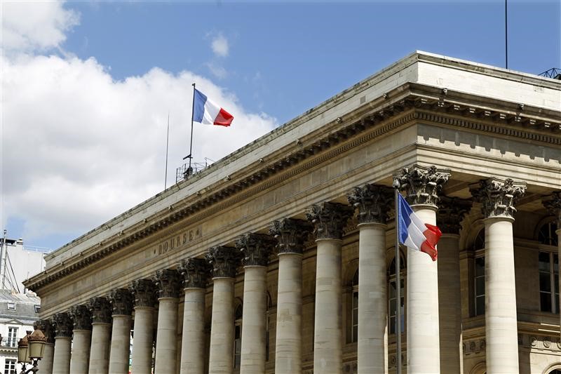
<path id="1" fill-rule="evenodd" d="M 139 243 L 148 236 L 161 236 L 164 232 L 169 234 L 168 229 L 178 222 L 181 222 L 182 228 L 194 225 L 293 175 L 419 120 L 532 140 L 543 145 L 561 145 L 560 112 L 537 107 L 521 108 L 518 103 L 444 91 L 442 88 L 421 84 L 404 84 L 269 154 L 267 161 L 261 159 L 248 168 L 236 171 L 234 175 L 225 175 L 224 180 L 162 209 L 149 221 L 141 220 L 133 227 L 91 246 L 66 262 L 49 267 L 25 281 L 25 286 L 40 293 L 41 288 L 49 283 L 88 267 L 122 248 Z M 295 126 L 290 123 L 290 126 L 283 126 L 273 132 L 290 131 Z M 264 138 L 270 136 L 271 133 Z M 256 142 L 251 144 L 255 145 Z M 196 178 L 204 176 L 204 171 L 195 175 Z M 173 188 L 170 187 L 164 193 L 173 193 Z M 110 222 L 102 225 L 101 229 Z M 177 227 L 178 229 L 180 228 Z M 50 256 L 53 258 L 55 253 Z"/>

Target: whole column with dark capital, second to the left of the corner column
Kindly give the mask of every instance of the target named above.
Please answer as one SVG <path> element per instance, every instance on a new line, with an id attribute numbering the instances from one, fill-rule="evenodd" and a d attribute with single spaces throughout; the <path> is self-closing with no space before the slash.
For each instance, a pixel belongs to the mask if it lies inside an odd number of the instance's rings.
<path id="1" fill-rule="evenodd" d="M 316 234 L 316 313 L 313 331 L 313 372 L 342 373 L 343 321 L 341 246 L 343 229 L 353 208 L 317 203 L 306 212 Z"/>

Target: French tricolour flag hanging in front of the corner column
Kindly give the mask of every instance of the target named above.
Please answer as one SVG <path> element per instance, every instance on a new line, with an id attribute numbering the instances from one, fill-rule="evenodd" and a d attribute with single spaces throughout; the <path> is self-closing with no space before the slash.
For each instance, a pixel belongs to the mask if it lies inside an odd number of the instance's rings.
<path id="1" fill-rule="evenodd" d="M 403 245 L 427 253 L 433 261 L 436 261 L 436 243 L 442 236 L 440 229 L 434 225 L 429 225 L 421 221 L 414 213 L 411 206 L 398 195 L 398 220 L 399 220 L 399 241 Z"/>

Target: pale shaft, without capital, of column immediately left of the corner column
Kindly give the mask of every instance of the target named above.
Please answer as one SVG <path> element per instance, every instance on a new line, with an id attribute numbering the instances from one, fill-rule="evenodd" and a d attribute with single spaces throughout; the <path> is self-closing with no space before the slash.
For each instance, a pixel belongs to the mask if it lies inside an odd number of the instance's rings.
<path id="1" fill-rule="evenodd" d="M 358 373 L 387 373 L 386 225 L 358 225 Z"/>

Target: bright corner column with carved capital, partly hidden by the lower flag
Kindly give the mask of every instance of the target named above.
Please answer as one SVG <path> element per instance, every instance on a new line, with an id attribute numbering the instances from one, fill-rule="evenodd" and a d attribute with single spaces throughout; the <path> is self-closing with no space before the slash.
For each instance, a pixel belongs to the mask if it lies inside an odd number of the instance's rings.
<path id="1" fill-rule="evenodd" d="M 438 192 L 450 171 L 404 168 L 397 177 L 407 202 L 425 223 L 436 225 Z M 438 269 L 424 252 L 407 248 L 407 372 L 440 373 Z M 360 288 L 360 286 L 359 286 Z"/>

